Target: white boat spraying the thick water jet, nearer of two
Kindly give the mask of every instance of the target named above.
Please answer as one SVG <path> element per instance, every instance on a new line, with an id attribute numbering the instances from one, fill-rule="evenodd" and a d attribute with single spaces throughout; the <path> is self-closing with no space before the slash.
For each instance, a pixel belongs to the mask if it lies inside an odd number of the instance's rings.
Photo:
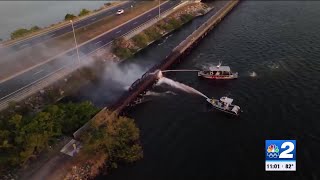
<path id="1" fill-rule="evenodd" d="M 207 99 L 207 101 L 217 110 L 238 116 L 241 112 L 240 107 L 232 104 L 233 99 L 228 97 L 221 97 L 218 99 Z"/>

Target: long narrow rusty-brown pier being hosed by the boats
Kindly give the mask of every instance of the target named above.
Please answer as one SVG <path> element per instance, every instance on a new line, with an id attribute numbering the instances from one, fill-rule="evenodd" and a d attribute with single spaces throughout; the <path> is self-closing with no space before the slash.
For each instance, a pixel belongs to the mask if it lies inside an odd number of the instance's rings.
<path id="1" fill-rule="evenodd" d="M 196 29 L 191 35 L 189 35 L 184 41 L 182 41 L 177 47 L 175 47 L 171 54 L 167 56 L 161 63 L 153 66 L 149 69 L 141 78 L 137 79 L 115 103 L 111 106 L 104 108 L 100 113 L 105 113 L 105 110 L 115 112 L 116 114 L 121 114 L 127 107 L 131 106 L 134 101 L 147 92 L 161 77 L 161 71 L 172 67 L 183 60 L 192 48 L 194 48 L 200 40 L 202 40 L 209 31 L 211 31 L 221 20 L 224 18 L 237 4 L 238 0 L 233 0 L 228 2 L 224 7 L 222 7 L 217 13 L 215 13 L 211 18 L 209 18 L 205 23 L 203 23 L 198 29 Z M 78 131 L 76 131 L 73 136 L 78 139 L 82 132 L 86 131 L 89 127 L 89 123 L 85 124 Z"/>

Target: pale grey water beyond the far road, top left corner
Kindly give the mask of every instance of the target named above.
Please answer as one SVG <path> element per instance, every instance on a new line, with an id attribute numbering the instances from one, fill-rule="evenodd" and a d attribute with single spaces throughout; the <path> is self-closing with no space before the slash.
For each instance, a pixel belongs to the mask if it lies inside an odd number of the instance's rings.
<path id="1" fill-rule="evenodd" d="M 63 21 L 67 13 L 98 9 L 105 1 L 0 1 L 0 38 L 18 28 L 47 27 Z"/>

